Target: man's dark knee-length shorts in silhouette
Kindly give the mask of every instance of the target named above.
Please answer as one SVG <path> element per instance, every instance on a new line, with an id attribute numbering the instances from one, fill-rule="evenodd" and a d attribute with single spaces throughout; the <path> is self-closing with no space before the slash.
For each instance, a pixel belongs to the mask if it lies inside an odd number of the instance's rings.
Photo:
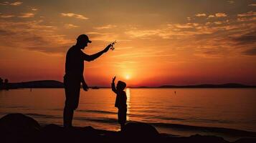
<path id="1" fill-rule="evenodd" d="M 77 109 L 80 97 L 80 77 L 64 77 L 64 87 L 65 87 L 65 107 L 68 109 Z"/>

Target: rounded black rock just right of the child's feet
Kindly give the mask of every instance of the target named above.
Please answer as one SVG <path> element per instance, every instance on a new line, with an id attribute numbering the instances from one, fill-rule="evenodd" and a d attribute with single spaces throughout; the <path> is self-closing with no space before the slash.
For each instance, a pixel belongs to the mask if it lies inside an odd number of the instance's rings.
<path id="1" fill-rule="evenodd" d="M 127 139 L 156 139 L 159 133 L 155 127 L 150 124 L 135 122 L 125 124 L 123 135 Z"/>

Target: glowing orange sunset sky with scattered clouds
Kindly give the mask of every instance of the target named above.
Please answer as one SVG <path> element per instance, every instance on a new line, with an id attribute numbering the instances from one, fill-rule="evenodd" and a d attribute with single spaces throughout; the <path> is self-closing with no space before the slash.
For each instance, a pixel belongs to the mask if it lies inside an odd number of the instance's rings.
<path id="1" fill-rule="evenodd" d="M 1 1 L 0 77 L 62 81 L 79 34 L 93 54 L 85 80 L 109 86 L 256 84 L 255 1 Z"/>

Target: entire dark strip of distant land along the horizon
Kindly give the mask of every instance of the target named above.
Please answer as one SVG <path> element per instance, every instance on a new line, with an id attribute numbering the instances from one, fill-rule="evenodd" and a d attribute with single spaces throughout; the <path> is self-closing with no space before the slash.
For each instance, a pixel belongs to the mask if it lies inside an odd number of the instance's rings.
<path id="1" fill-rule="evenodd" d="M 64 88 L 62 82 L 54 81 L 54 80 L 41 80 L 41 81 L 31 81 L 31 82 L 16 82 L 9 83 L 8 89 L 35 89 L 35 88 Z M 91 89 L 100 89 L 100 88 L 110 88 L 110 87 L 98 87 L 93 86 Z M 237 83 L 227 83 L 227 84 L 196 84 L 196 85 L 162 85 L 158 87 L 129 87 L 129 88 L 140 88 L 140 89 L 234 89 L 234 88 L 256 88 L 254 85 L 245 85 L 245 84 L 237 84 Z"/>

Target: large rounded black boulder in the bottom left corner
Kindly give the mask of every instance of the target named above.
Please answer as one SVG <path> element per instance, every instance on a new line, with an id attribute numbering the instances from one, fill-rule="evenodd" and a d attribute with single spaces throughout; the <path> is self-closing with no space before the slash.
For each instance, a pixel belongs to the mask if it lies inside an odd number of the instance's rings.
<path id="1" fill-rule="evenodd" d="M 0 119 L 0 134 L 6 142 L 25 142 L 37 137 L 38 122 L 24 114 L 7 114 Z"/>

